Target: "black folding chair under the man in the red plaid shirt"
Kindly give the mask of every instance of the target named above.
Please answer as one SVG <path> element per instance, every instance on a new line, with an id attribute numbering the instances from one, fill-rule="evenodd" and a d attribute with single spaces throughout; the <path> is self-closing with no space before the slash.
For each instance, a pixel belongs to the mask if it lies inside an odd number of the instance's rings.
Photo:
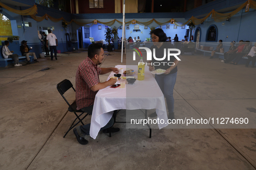
<path id="1" fill-rule="evenodd" d="M 58 92 L 62 95 L 62 98 L 64 98 L 64 100 L 67 102 L 67 104 L 68 104 L 68 111 L 70 111 L 70 112 L 73 112 L 73 113 L 75 113 L 75 116 L 76 116 L 76 118 L 75 118 L 75 120 L 73 121 L 73 123 L 71 124 L 71 126 L 70 126 L 70 128 L 68 129 L 68 131 L 65 133 L 65 135 L 63 136 L 63 138 L 65 138 L 65 136 L 68 134 L 68 132 L 71 130 L 71 129 L 73 129 L 78 123 L 82 123 L 82 125 L 84 125 L 84 123 L 83 123 L 83 119 L 88 115 L 88 114 L 91 114 L 91 113 L 87 113 L 82 119 L 80 119 L 80 116 L 82 115 L 82 114 L 84 114 L 84 111 L 82 111 L 82 110 L 77 110 L 76 108 L 77 108 L 77 105 L 76 105 L 76 102 L 74 101 L 72 104 L 69 104 L 68 103 L 68 101 L 66 100 L 66 98 L 64 97 L 64 93 L 66 92 L 66 91 L 68 91 L 68 89 L 70 89 L 70 88 L 73 88 L 73 85 L 72 85 L 72 83 L 69 81 L 69 80 L 67 80 L 67 79 L 65 79 L 65 80 L 63 80 L 62 82 L 60 82 L 60 83 L 58 83 L 58 85 L 57 85 L 57 89 L 58 89 Z M 75 88 L 73 88 L 73 90 L 75 91 Z M 78 112 L 78 113 L 81 113 L 79 116 L 78 116 L 78 114 L 76 113 L 76 112 Z M 77 123 L 75 123 L 75 121 L 78 119 L 78 122 Z M 75 123 L 75 125 L 73 125 Z"/>

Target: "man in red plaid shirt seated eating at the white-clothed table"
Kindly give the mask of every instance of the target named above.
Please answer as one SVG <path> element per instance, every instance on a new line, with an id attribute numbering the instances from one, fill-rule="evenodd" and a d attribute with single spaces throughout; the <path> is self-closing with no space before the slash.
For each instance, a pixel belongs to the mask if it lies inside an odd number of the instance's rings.
<path id="1" fill-rule="evenodd" d="M 109 79 L 107 82 L 100 82 L 100 74 L 107 74 L 111 71 L 118 73 L 117 68 L 98 67 L 98 64 L 101 64 L 103 58 L 104 50 L 100 44 L 89 45 L 88 57 L 86 57 L 86 59 L 78 66 L 75 77 L 75 98 L 78 106 L 77 110 L 81 109 L 84 112 L 91 114 L 94 106 L 94 99 L 98 90 L 114 85 L 117 82 L 117 79 Z M 107 125 L 102 127 L 100 130 L 103 130 L 103 133 L 109 133 L 109 130 L 111 130 L 111 132 L 118 132 L 120 129 L 113 128 L 113 124 L 114 118 L 112 116 Z M 91 123 L 84 126 L 78 126 L 73 130 L 78 142 L 82 145 L 86 145 L 88 143 L 84 137 L 86 135 L 90 135 L 90 126 Z"/>

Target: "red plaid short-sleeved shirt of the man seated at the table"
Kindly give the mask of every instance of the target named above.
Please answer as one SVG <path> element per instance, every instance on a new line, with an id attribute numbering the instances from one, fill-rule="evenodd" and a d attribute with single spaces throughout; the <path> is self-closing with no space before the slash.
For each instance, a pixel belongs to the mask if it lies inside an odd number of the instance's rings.
<path id="1" fill-rule="evenodd" d="M 75 76 L 75 98 L 77 110 L 91 106 L 98 91 L 92 91 L 91 87 L 100 82 L 98 67 L 89 57 L 78 66 Z"/>

